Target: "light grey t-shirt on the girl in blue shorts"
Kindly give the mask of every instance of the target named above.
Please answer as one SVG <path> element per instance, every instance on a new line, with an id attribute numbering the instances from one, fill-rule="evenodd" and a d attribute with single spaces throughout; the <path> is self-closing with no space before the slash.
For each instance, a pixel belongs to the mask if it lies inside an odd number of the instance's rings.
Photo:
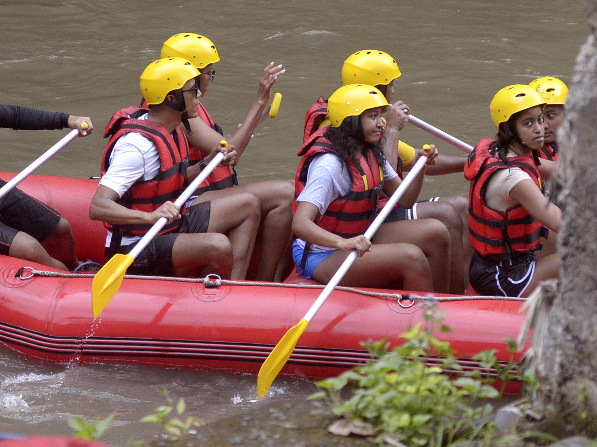
<path id="1" fill-rule="evenodd" d="M 382 166 L 384 179 L 391 180 L 398 176 L 392 166 L 384 159 Z M 350 192 L 352 181 L 350 171 L 346 164 L 334 154 L 321 154 L 309 164 L 307 181 L 304 190 L 298 195 L 297 203 L 306 201 L 318 207 L 316 219 L 321 219 L 330 203 L 338 197 L 343 197 Z M 304 249 L 304 241 L 297 238 L 298 245 Z M 330 247 L 311 245 L 313 252 L 328 252 Z"/>

